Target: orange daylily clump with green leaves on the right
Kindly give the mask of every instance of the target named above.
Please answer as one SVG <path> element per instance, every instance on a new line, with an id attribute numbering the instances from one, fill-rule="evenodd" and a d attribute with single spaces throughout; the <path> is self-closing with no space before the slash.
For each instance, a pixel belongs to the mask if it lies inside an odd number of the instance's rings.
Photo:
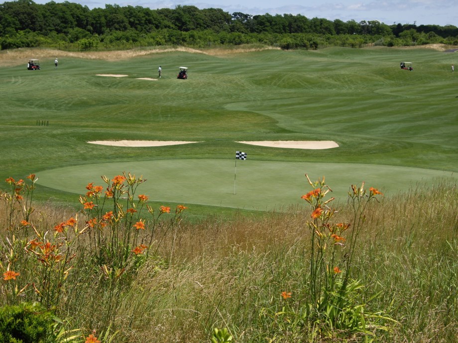
<path id="1" fill-rule="evenodd" d="M 331 188 L 325 178 L 312 182 L 313 189 L 302 198 L 311 206 L 311 221 L 306 226 L 310 231 L 309 272 L 304 272 L 305 294 L 300 290 L 281 293 L 284 305 L 280 311 L 277 304 L 264 307 L 261 318 L 269 327 L 268 337 L 272 341 L 289 342 L 307 337 L 303 342 L 317 342 L 328 338 L 376 336 L 380 330 L 389 330 L 385 323 L 396 322 L 385 311 L 368 313 L 362 300 L 363 284 L 350 278 L 354 266 L 355 249 L 365 221 L 365 208 L 375 196 L 381 194 L 369 188 L 369 194 L 361 187 L 351 186 L 348 193 L 353 205 L 353 220 L 349 223 L 333 223 L 338 212 L 330 207 L 334 198 L 325 200 Z M 346 236 L 343 237 L 343 236 Z M 341 269 L 342 267 L 342 269 Z M 293 294 L 297 300 L 292 302 Z M 371 301 L 379 297 L 375 294 Z"/>

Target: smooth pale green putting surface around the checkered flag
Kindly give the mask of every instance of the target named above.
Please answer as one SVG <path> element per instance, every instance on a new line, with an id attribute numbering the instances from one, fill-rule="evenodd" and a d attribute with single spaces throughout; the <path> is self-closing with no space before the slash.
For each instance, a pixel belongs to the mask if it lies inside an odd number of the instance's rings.
<path id="1" fill-rule="evenodd" d="M 236 167 L 235 167 L 236 162 Z M 37 183 L 77 194 L 86 192 L 89 182 L 104 185 L 122 171 L 143 175 L 137 194 L 152 201 L 202 204 L 249 210 L 271 210 L 303 203 L 311 190 L 305 173 L 316 180 L 323 175 L 333 196 L 344 199 L 351 184 L 365 181 L 385 195 L 407 191 L 411 185 L 433 184 L 441 178 L 454 181 L 452 172 L 420 168 L 363 164 L 300 163 L 237 160 L 160 160 L 132 163 L 94 164 L 59 168 L 38 173 Z M 235 180 L 234 180 L 235 178 Z M 234 182 L 235 181 L 235 182 Z M 235 194 L 234 194 L 235 184 Z M 105 186 L 105 185 L 104 185 Z"/>

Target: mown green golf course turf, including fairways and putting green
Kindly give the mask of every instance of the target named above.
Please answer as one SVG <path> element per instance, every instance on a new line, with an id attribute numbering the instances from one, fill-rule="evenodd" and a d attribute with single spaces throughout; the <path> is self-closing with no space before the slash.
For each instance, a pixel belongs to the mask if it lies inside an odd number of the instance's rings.
<path id="1" fill-rule="evenodd" d="M 305 172 L 312 179 L 332 177 L 338 195 L 363 180 L 390 194 L 441 175 L 456 177 L 453 54 L 388 48 L 226 57 L 169 52 L 116 62 L 59 58 L 57 70 L 54 57 L 42 59 L 36 72 L 25 69 L 27 61 L 0 69 L 0 177 L 36 173 L 41 200 L 75 203 L 73 192 L 83 193 L 87 182 L 122 171 L 143 174 L 145 192 L 158 202 L 214 206 L 204 207 L 209 211 L 297 203 Z M 402 60 L 412 61 L 414 72 L 400 70 Z M 156 77 L 159 65 L 161 80 L 135 79 Z M 185 81 L 176 79 L 182 65 L 189 67 Z M 86 143 L 123 139 L 203 143 Z M 334 140 L 340 147 L 236 143 L 249 140 Z M 236 150 L 249 160 L 237 164 L 233 196 Z"/>

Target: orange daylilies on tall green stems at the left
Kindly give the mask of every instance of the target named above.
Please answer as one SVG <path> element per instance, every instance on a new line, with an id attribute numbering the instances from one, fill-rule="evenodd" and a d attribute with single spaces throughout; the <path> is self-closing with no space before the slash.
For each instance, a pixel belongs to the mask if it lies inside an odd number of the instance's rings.
<path id="1" fill-rule="evenodd" d="M 31 205 L 36 175 L 30 174 L 27 181 L 16 181 L 12 177 L 6 179 L 10 192 L 0 192 L 0 199 L 6 210 L 7 234 L 1 243 L 8 254 L 5 254 L 6 268 L 3 264 L 0 268 L 5 269 L 3 296 L 7 302 L 20 301 L 18 296 L 22 296 L 36 298 L 46 309 L 59 306 L 67 293 L 69 273 L 75 267 L 75 252 L 87 251 L 90 252 L 86 257 L 89 263 L 80 259 L 82 265 L 79 267 L 84 268 L 87 264 L 97 266 L 97 276 L 107 287 L 107 306 L 101 309 L 104 327 L 113 324 L 116 314 L 114 305 L 119 301 L 122 287 L 130 283 L 129 276 L 140 269 L 150 254 L 153 255 L 150 250 L 157 244 L 154 236 L 156 226 L 163 226 L 165 233 L 172 230 L 187 207 L 178 205 L 175 216 L 162 223 L 159 218 L 170 213 L 170 207 L 161 206 L 155 215 L 154 209 L 147 204 L 148 196 L 140 194 L 135 197 L 138 185 L 145 179 L 130 173 L 114 176 L 112 180 L 106 176 L 102 179 L 107 184 L 105 195 L 102 195 L 103 186 L 90 182 L 86 186 L 86 195 L 80 196 L 83 205 L 81 214 L 86 218 L 86 225 L 79 227 L 75 219 L 78 215 L 75 215 L 75 218 L 54 226 L 54 234 L 49 234 L 48 228 L 42 227 L 39 219 L 30 218 L 34 211 Z M 141 217 L 143 208 L 152 216 L 151 223 L 145 224 Z M 148 234 L 140 235 L 148 224 Z M 102 234 L 107 230 L 110 234 Z M 84 243 L 85 239 L 88 244 Z M 20 290 L 19 284 L 22 287 Z M 30 288 L 34 292 L 30 292 Z"/>

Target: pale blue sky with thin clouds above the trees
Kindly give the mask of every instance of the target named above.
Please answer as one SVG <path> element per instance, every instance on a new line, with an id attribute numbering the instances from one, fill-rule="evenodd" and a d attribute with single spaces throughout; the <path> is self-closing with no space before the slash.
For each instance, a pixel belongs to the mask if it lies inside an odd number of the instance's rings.
<path id="1" fill-rule="evenodd" d="M 46 3 L 38 0 L 35 3 Z M 63 1 L 63 0 L 62 0 Z M 56 0 L 56 2 L 62 2 Z M 323 2 L 322 2 L 323 1 Z M 340 19 L 343 21 L 378 20 L 387 25 L 393 23 L 416 25 L 458 26 L 458 0 L 69 0 L 90 9 L 105 8 L 105 4 L 175 8 L 177 5 L 193 5 L 200 9 L 221 8 L 232 14 L 302 14 L 307 18 Z"/>

